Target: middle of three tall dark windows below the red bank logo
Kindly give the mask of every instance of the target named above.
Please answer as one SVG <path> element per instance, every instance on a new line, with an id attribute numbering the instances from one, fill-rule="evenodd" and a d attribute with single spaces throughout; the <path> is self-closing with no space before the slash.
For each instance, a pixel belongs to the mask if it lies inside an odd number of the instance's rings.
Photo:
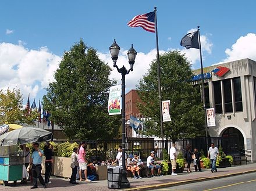
<path id="1" fill-rule="evenodd" d="M 223 90 L 224 90 L 225 112 L 226 113 L 233 112 L 230 79 L 223 80 Z"/>

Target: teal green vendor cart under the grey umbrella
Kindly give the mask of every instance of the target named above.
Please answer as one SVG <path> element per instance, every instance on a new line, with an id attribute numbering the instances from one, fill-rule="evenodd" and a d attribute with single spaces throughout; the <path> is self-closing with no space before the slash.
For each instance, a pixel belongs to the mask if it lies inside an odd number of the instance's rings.
<path id="1" fill-rule="evenodd" d="M 17 145 L 0 146 L 0 180 L 3 186 L 8 185 L 9 181 L 16 185 L 17 181 L 22 180 L 23 153 L 18 149 Z"/>

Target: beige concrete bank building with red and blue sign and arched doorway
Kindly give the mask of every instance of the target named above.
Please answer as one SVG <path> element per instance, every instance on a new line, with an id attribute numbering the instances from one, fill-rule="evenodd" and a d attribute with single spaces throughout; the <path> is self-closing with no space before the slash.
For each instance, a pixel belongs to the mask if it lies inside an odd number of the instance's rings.
<path id="1" fill-rule="evenodd" d="M 194 70 L 193 84 L 201 82 Z M 236 60 L 204 68 L 207 108 L 215 109 L 211 137 L 221 137 L 223 151 L 256 162 L 256 62 Z"/>

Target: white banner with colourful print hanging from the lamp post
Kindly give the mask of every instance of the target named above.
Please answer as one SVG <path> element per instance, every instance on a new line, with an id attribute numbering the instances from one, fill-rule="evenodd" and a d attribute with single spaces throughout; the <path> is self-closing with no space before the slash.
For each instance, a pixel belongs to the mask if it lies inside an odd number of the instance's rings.
<path id="1" fill-rule="evenodd" d="M 110 88 L 108 97 L 108 114 L 119 115 L 121 114 L 121 85 L 115 85 Z"/>

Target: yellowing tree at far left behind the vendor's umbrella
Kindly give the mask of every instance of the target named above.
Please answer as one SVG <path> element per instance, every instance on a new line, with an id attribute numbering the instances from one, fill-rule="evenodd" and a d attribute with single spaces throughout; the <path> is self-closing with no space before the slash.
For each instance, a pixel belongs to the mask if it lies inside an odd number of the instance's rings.
<path id="1" fill-rule="evenodd" d="M 0 90 L 0 124 L 34 125 L 37 111 L 23 110 L 23 99 L 19 89 Z"/>

